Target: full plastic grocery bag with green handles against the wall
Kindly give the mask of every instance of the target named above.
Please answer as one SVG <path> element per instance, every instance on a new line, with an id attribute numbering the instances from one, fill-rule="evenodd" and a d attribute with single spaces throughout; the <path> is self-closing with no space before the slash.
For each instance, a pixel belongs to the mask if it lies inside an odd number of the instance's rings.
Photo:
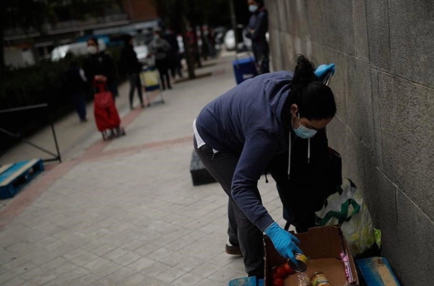
<path id="1" fill-rule="evenodd" d="M 361 190 L 345 179 L 338 192 L 327 198 L 325 206 L 316 212 L 320 226 L 340 225 L 353 256 L 363 253 L 375 243 L 371 214 Z"/>

